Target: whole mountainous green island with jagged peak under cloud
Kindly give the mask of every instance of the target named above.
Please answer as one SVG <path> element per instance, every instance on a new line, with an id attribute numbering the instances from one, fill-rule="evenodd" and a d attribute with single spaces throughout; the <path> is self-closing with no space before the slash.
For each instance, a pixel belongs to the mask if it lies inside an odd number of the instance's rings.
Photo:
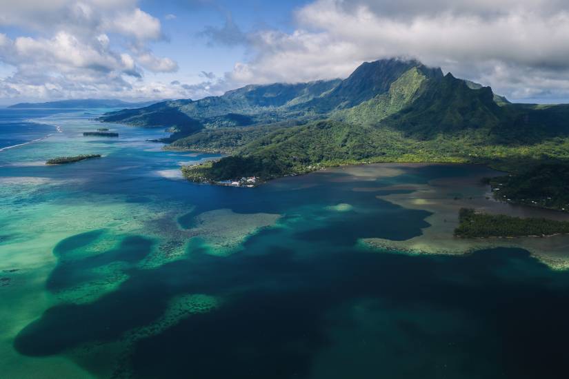
<path id="1" fill-rule="evenodd" d="M 569 159 L 569 105 L 513 104 L 419 61 L 363 63 L 346 79 L 248 85 L 163 101 L 101 121 L 169 127 L 168 148 L 232 156 L 190 178 L 274 178 L 362 162 L 488 163 L 517 170 Z"/>

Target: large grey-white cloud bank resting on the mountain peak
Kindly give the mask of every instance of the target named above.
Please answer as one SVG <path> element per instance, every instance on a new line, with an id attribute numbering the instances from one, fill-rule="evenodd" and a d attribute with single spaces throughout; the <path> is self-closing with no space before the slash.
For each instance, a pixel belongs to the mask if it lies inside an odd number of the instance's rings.
<path id="1" fill-rule="evenodd" d="M 293 32 L 248 34 L 235 83 L 345 77 L 363 61 L 413 57 L 512 98 L 569 94 L 569 3 L 317 0 Z"/>

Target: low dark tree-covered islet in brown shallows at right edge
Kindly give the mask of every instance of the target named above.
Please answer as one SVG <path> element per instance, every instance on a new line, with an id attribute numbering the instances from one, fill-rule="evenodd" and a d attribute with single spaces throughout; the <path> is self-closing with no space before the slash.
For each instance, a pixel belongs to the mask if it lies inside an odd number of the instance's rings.
<path id="1" fill-rule="evenodd" d="M 569 221 L 486 214 L 470 208 L 460 209 L 459 226 L 455 229 L 455 236 L 464 238 L 546 237 L 557 234 L 569 234 Z"/>

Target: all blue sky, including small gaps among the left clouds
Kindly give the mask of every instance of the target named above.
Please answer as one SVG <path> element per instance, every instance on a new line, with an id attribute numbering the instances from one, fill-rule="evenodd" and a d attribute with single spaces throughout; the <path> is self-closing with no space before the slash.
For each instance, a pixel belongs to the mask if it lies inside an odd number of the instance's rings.
<path id="1" fill-rule="evenodd" d="M 0 0 L 0 5 L 2 5 L 4 1 L 5 0 Z M 28 9 L 26 9 L 26 6 L 21 7 L 23 9 L 17 9 L 18 6 L 13 2 L 9 6 L 14 9 L 14 14 L 17 14 L 21 18 L 21 21 L 10 20 L 10 12 L 7 12 L 6 20 L 2 20 L 0 17 L 0 34 L 10 39 L 12 43 L 15 43 L 17 39 L 28 37 L 36 39 L 41 43 L 41 40 L 53 38 L 54 34 L 60 30 L 65 30 L 66 23 L 68 25 L 72 25 L 73 23 L 72 21 L 69 22 L 68 19 L 63 19 L 61 20 L 63 27 L 46 28 L 45 25 L 41 25 L 41 21 L 39 20 L 41 14 L 38 17 L 38 14 L 34 14 L 33 12 L 34 1 L 23 1 L 24 3 L 30 3 L 30 6 L 27 7 Z M 69 9 L 82 3 L 79 1 L 66 0 L 54 1 L 56 4 L 52 7 L 52 12 L 61 13 L 69 12 Z M 57 4 L 57 2 L 59 2 L 59 4 Z M 211 94 L 220 94 L 224 90 L 230 89 L 230 83 L 223 82 L 220 84 L 217 82 L 222 80 L 226 72 L 233 70 L 236 62 L 249 59 L 252 52 L 246 43 L 239 41 L 232 41 L 231 43 L 216 41 L 216 38 L 211 37 L 210 34 L 206 32 L 207 30 L 223 30 L 228 20 L 231 20 L 231 25 L 239 31 L 237 38 L 242 37 L 241 34 L 244 35 L 263 29 L 292 32 L 294 30 L 293 13 L 295 9 L 306 4 L 306 1 L 297 0 L 281 2 L 257 0 L 239 2 L 210 0 L 126 0 L 124 2 L 126 3 L 125 9 L 127 11 L 133 8 L 139 8 L 139 10 L 160 23 L 161 36 L 156 39 L 151 38 L 148 39 L 148 41 L 142 41 L 144 48 L 152 51 L 152 54 L 156 57 L 168 57 L 168 59 L 172 59 L 172 61 L 177 64 L 177 70 L 144 70 L 142 81 L 159 81 L 165 85 L 172 82 L 179 82 L 183 83 L 183 85 L 201 85 L 203 87 L 204 82 L 209 80 L 204 76 L 203 72 L 208 74 L 212 73 L 216 78 L 215 84 L 217 84 L 217 88 L 212 90 Z M 86 3 L 92 8 L 99 6 L 97 0 L 87 1 Z M 110 1 L 110 3 L 112 3 L 112 1 Z M 106 10 L 105 13 L 106 14 L 101 16 L 101 23 L 104 22 L 102 17 L 112 16 L 112 9 Z M 141 27 L 142 26 L 143 25 L 141 25 Z M 85 30 L 85 32 L 88 38 L 95 36 L 99 30 L 92 28 L 92 30 Z M 139 43 L 138 41 L 128 41 L 128 38 L 127 41 L 125 41 L 125 36 L 120 33 L 113 35 L 112 32 L 107 32 L 106 34 L 110 37 L 110 46 L 114 49 L 115 54 L 120 54 L 121 50 L 125 50 L 125 44 Z M 10 52 L 6 52 L 6 54 L 9 53 Z M 26 85 L 22 85 L 21 83 L 23 75 L 19 73 L 19 64 L 22 66 L 26 65 L 24 59 L 25 58 L 22 59 L 23 62 L 14 62 L 13 59 L 2 59 L 2 55 L 0 54 L 0 80 L 4 79 L 5 81 L 3 93 L 0 91 L 0 104 L 9 104 L 23 100 L 40 101 L 87 96 L 113 96 L 122 99 L 139 100 L 152 97 L 161 99 L 177 97 L 176 95 L 192 95 L 192 93 L 188 93 L 188 91 L 184 93 L 183 91 L 176 92 L 175 90 L 170 92 L 163 91 L 165 92 L 163 94 L 142 91 L 140 95 L 133 95 L 132 92 L 118 89 L 114 91 L 101 89 L 100 94 L 97 94 L 96 91 L 87 90 L 81 93 L 81 91 L 66 91 L 65 86 L 61 85 L 61 83 L 51 86 L 62 88 L 60 91 L 49 92 L 49 90 L 45 88 L 35 91 L 20 90 L 19 88 L 26 88 Z M 41 65 L 38 65 L 38 67 L 41 67 Z M 57 67 L 47 68 L 47 70 L 50 70 L 52 76 L 59 74 Z M 104 77 L 102 79 L 105 80 Z M 48 82 L 48 80 L 46 80 L 46 82 Z M 33 84 L 36 85 L 38 83 Z M 12 89 L 11 92 L 10 89 Z M 196 90 L 194 92 L 195 97 L 209 94 L 203 90 Z"/>

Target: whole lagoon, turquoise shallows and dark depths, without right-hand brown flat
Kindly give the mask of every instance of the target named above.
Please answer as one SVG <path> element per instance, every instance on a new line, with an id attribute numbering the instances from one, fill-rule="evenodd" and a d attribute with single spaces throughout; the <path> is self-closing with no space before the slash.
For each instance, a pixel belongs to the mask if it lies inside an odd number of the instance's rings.
<path id="1" fill-rule="evenodd" d="M 564 377 L 567 272 L 523 249 L 361 243 L 430 227 L 430 212 L 378 196 L 490 170 L 377 165 L 195 185 L 180 165 L 212 156 L 161 151 L 146 141 L 161 130 L 83 137 L 100 127 L 92 117 L 50 115 L 42 123 L 61 133 L 0 152 L 7 377 Z M 71 154 L 103 157 L 43 165 Z"/>

